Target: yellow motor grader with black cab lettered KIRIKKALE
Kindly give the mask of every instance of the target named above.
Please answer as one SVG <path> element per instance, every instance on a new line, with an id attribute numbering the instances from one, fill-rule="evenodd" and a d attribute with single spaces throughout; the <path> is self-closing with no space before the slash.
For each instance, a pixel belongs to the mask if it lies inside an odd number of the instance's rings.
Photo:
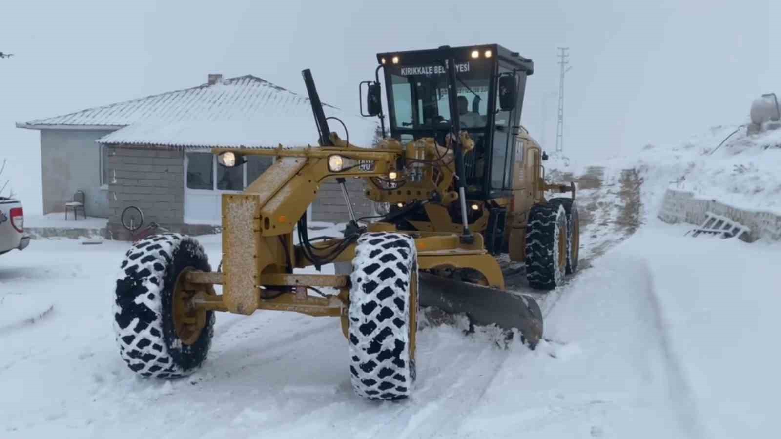
<path id="1" fill-rule="evenodd" d="M 221 166 L 276 158 L 243 193 L 223 195 L 217 271 L 191 237 L 134 243 L 116 283 L 114 325 L 130 369 L 162 378 L 198 369 L 215 312 L 340 317 L 352 386 L 369 399 L 411 393 L 421 306 L 519 330 L 537 344 L 540 308 L 506 290 L 495 257 L 525 262 L 530 287 L 548 290 L 576 271 L 580 244 L 574 184 L 545 183 L 544 153 L 520 126 L 533 62 L 499 45 L 387 52 L 377 62 L 375 80 L 361 84 L 362 113 L 378 116 L 383 130 L 375 148 L 330 131 L 334 118 L 304 70 L 318 146 L 213 150 Z M 373 223 L 356 218 L 347 178 L 365 180 L 366 197 L 389 212 Z M 328 180 L 341 184 L 347 227 L 341 237 L 310 238 L 306 209 Z M 547 191 L 572 196 L 546 199 Z M 295 271 L 344 262 L 345 274 Z"/>

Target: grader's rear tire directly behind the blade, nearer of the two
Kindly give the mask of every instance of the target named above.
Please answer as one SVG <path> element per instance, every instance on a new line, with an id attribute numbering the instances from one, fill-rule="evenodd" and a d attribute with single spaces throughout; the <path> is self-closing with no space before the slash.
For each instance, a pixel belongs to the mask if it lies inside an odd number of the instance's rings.
<path id="1" fill-rule="evenodd" d="M 563 236 L 560 230 L 565 231 Z M 526 279 L 530 287 L 552 290 L 562 284 L 566 263 L 558 263 L 559 240 L 566 240 L 566 230 L 563 205 L 546 203 L 530 209 L 526 226 Z"/>

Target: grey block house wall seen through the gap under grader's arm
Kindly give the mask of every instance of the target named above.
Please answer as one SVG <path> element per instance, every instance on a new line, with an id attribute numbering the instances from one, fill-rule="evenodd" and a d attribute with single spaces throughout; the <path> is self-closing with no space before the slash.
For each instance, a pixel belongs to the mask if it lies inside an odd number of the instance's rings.
<path id="1" fill-rule="evenodd" d="M 355 216 L 375 215 L 373 204 L 364 195 L 366 183 L 362 179 L 348 178 L 345 180 L 350 193 L 352 209 Z M 347 205 L 344 204 L 344 195 L 341 187 L 334 182 L 320 185 L 320 191 L 312 204 L 312 221 L 325 221 L 328 223 L 347 223 L 350 214 Z"/>

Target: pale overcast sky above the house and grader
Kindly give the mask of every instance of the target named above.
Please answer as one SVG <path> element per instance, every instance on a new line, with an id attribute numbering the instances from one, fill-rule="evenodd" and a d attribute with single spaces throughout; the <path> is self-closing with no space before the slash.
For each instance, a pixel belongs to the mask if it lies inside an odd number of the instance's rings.
<path id="1" fill-rule="evenodd" d="M 781 6 L 770 0 L 5 0 L 0 13 L 0 51 L 16 54 L 0 59 L 10 161 L 0 178 L 12 178 L 27 212 L 41 209 L 39 138 L 15 122 L 193 87 L 208 73 L 305 92 L 300 71 L 311 68 L 323 101 L 357 113 L 376 52 L 495 42 L 534 59 L 522 122 L 553 149 L 565 45 L 565 153 L 575 158 L 743 123 L 752 99 L 781 94 Z"/>

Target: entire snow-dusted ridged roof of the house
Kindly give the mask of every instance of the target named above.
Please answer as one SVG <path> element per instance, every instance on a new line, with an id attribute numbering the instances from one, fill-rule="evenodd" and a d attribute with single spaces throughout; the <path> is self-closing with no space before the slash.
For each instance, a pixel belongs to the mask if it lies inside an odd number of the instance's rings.
<path id="1" fill-rule="evenodd" d="M 98 139 L 108 145 L 273 148 L 316 144 L 317 129 L 306 96 L 245 75 L 80 112 L 16 123 L 16 127 L 118 130 Z M 323 104 L 339 117 L 350 141 L 369 146 L 376 123 Z M 341 124 L 331 130 L 342 137 Z"/>

